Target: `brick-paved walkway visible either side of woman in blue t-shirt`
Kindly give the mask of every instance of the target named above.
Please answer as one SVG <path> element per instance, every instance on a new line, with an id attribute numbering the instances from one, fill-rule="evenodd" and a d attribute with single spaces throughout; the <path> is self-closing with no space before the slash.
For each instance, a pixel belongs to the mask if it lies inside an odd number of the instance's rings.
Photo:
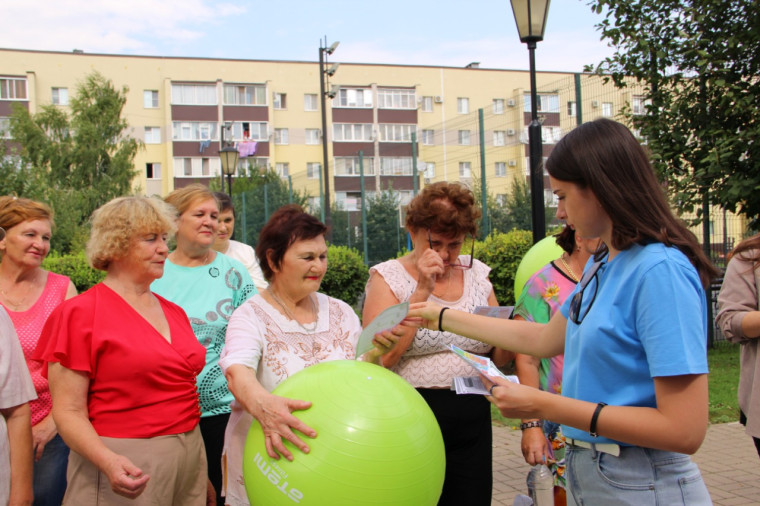
<path id="1" fill-rule="evenodd" d="M 529 466 L 520 452 L 520 431 L 494 425 L 494 506 L 512 506 L 525 494 Z M 717 506 L 760 504 L 760 459 L 752 439 L 738 422 L 711 425 L 694 455 Z"/>

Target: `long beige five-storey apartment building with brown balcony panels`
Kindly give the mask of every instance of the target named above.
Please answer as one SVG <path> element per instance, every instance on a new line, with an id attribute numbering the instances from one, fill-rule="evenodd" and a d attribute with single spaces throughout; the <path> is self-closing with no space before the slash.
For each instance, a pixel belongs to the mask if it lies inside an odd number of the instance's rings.
<path id="1" fill-rule="evenodd" d="M 402 202 L 412 196 L 415 174 L 418 186 L 442 180 L 471 184 L 485 176 L 488 191 L 499 199 L 515 178 L 527 178 L 527 71 L 477 63 L 342 63 L 335 69 L 332 61 L 324 69 L 323 76 L 318 62 L 0 49 L 0 135 L 8 138 L 3 130 L 12 102 L 31 112 L 46 104 L 66 107 L 77 84 L 98 71 L 117 88 L 129 88 L 129 135 L 144 142 L 134 184 L 145 194 L 165 195 L 220 177 L 223 140 L 240 152 L 239 170 L 274 169 L 293 188 L 308 192 L 315 206 L 324 173 L 323 139 L 331 201 L 349 210 L 360 202 L 360 153 L 366 190 L 392 185 Z M 581 121 L 620 118 L 624 108 L 643 112 L 634 92 L 595 76 L 538 72 L 537 83 L 545 156 Z M 548 181 L 545 188 L 550 205 Z"/>

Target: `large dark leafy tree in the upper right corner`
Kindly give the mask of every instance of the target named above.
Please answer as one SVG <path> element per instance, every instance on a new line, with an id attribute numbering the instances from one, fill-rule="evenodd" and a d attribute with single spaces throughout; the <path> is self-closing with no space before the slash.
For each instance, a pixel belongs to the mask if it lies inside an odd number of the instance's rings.
<path id="1" fill-rule="evenodd" d="M 587 70 L 643 85 L 628 111 L 680 209 L 705 195 L 760 224 L 760 9 L 755 0 L 593 0 L 616 49 Z M 638 111 L 637 111 L 638 112 Z M 706 199 L 705 199 L 706 201 Z"/>

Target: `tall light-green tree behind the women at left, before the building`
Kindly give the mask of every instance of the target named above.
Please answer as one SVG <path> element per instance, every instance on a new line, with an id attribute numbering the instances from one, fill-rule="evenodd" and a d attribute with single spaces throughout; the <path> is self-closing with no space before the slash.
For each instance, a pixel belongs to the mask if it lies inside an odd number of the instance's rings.
<path id="1" fill-rule="evenodd" d="M 121 116 L 127 91 L 94 72 L 77 85 L 70 112 L 46 105 L 30 114 L 14 107 L 11 163 L 23 177 L 11 178 L 10 188 L 4 184 L 3 191 L 50 204 L 57 225 L 52 247 L 57 251 L 81 247 L 92 212 L 132 190 L 133 161 L 142 143 L 127 135 Z"/>

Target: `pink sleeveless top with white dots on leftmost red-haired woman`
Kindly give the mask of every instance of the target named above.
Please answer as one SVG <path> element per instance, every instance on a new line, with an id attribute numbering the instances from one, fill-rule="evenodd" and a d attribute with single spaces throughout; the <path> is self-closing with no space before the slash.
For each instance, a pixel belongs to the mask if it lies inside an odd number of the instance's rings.
<path id="1" fill-rule="evenodd" d="M 29 407 L 32 410 L 33 426 L 37 425 L 50 413 L 50 410 L 53 408 L 53 401 L 50 398 L 50 388 L 48 387 L 47 379 L 42 376 L 41 372 L 44 362 L 32 360 L 32 353 L 37 347 L 37 341 L 40 339 L 42 327 L 45 325 L 48 316 L 66 298 L 69 283 L 68 277 L 48 272 L 42 295 L 40 295 L 32 307 L 26 311 L 16 312 L 4 306 L 18 334 L 21 349 L 24 351 L 26 366 L 29 368 L 34 389 L 37 391 L 37 399 L 29 402 Z"/>

